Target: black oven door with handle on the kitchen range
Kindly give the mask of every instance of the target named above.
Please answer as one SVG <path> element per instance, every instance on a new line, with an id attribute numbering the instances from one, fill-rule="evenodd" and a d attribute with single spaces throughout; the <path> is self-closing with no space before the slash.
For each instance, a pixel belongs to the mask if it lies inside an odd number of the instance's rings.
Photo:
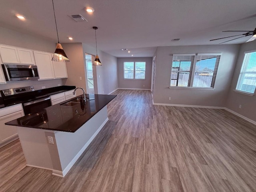
<path id="1" fill-rule="evenodd" d="M 50 97 L 24 103 L 23 104 L 24 114 L 27 115 L 30 113 L 38 113 L 38 112 L 44 110 L 44 108 L 49 107 L 51 105 L 52 104 L 51 104 Z"/>

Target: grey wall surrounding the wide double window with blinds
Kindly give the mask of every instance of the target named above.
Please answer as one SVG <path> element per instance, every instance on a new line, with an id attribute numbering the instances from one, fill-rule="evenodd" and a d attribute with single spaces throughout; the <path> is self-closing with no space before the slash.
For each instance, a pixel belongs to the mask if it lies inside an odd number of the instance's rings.
<path id="1" fill-rule="evenodd" d="M 234 72 L 240 45 L 167 46 L 158 47 L 154 103 L 224 106 Z M 214 90 L 170 89 L 172 54 L 222 53 Z M 171 97 L 171 100 L 168 100 Z"/>

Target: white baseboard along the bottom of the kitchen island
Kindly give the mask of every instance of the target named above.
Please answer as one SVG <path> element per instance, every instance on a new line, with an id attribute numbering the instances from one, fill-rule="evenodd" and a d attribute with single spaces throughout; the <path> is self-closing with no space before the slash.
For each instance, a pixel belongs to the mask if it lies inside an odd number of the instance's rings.
<path id="1" fill-rule="evenodd" d="M 71 162 L 66 166 L 66 168 L 63 171 L 53 170 L 52 175 L 64 177 L 68 171 L 71 169 L 71 167 L 75 164 L 75 162 L 78 160 L 78 158 L 82 155 L 84 150 L 89 146 L 89 144 L 92 142 L 92 140 L 96 137 L 96 135 L 100 132 L 100 130 L 104 127 L 104 125 L 108 122 L 108 118 L 100 125 L 98 130 L 91 136 L 91 138 L 86 142 L 86 144 L 82 147 L 82 149 L 74 156 L 74 158 L 71 160 Z"/>

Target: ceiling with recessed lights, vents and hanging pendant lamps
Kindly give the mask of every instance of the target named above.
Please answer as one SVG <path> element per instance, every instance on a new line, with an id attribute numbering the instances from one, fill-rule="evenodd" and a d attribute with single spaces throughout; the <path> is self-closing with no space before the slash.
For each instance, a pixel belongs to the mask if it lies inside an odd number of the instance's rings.
<path id="1" fill-rule="evenodd" d="M 256 0 L 54 0 L 54 5 L 60 43 L 72 36 L 72 42 L 95 47 L 92 26 L 98 26 L 98 49 L 116 57 L 153 56 L 157 46 L 218 44 L 223 41 L 209 40 L 240 34 L 223 30 L 256 27 Z M 81 14 L 88 22 L 75 22 L 68 14 Z M 57 42 L 52 0 L 1 0 L 0 26 Z M 174 38 L 180 41 L 171 42 Z"/>

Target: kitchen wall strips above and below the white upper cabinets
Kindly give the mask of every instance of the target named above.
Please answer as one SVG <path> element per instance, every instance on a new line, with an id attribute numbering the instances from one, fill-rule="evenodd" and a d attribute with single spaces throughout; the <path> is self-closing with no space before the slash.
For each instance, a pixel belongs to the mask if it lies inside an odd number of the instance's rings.
<path id="1" fill-rule="evenodd" d="M 23 34 L 14 30 L 0 27 L 0 44 L 6 44 L 11 46 L 17 46 L 22 48 L 28 48 L 32 50 L 39 50 L 45 52 L 54 52 L 56 44 L 46 39 Z M 24 86 L 34 86 L 36 90 L 42 89 L 42 86 L 46 88 L 56 87 L 58 84 L 62 85 L 61 79 L 56 80 L 25 80 L 7 82 L 6 84 L 0 84 L 0 90 L 9 88 L 18 88 Z"/>

